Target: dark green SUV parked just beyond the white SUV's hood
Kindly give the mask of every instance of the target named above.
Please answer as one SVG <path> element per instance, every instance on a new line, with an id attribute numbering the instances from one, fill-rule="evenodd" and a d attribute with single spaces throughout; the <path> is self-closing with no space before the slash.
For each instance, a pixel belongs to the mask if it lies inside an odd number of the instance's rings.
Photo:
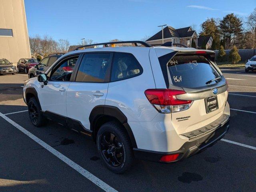
<path id="1" fill-rule="evenodd" d="M 43 58 L 37 65 L 28 70 L 28 78 L 36 77 L 48 70 L 52 64 L 63 54 L 50 54 Z"/>

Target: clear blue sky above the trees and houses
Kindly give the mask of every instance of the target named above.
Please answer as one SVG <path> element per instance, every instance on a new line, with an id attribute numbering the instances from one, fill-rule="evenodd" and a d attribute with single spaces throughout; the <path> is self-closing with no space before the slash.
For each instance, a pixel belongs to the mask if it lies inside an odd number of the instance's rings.
<path id="1" fill-rule="evenodd" d="M 48 34 L 72 45 L 81 38 L 140 40 L 161 24 L 199 30 L 206 18 L 246 17 L 255 7 L 255 0 L 25 0 L 30 36 Z"/>

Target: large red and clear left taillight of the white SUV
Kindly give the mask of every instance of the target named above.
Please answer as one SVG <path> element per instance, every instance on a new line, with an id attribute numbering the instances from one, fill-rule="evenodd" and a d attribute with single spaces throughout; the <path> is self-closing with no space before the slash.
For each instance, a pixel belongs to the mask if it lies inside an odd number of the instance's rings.
<path id="1" fill-rule="evenodd" d="M 149 102 L 153 104 L 160 113 L 175 113 L 190 108 L 193 101 L 177 99 L 176 95 L 180 94 L 186 94 L 186 92 L 171 89 L 148 89 L 145 91 Z"/>

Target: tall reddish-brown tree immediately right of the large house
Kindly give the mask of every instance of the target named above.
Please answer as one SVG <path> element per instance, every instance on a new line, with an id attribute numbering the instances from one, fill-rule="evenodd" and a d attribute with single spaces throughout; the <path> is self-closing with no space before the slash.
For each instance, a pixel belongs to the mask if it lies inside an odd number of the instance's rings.
<path id="1" fill-rule="evenodd" d="M 202 31 L 200 36 L 206 37 L 211 36 L 215 41 L 216 48 L 220 46 L 220 31 L 218 29 L 218 24 L 214 18 L 208 18 L 202 23 Z"/>

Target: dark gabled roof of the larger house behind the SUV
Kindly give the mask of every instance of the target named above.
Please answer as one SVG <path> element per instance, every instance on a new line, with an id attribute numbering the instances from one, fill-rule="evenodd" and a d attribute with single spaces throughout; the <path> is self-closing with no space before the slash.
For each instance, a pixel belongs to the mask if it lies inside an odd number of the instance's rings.
<path id="1" fill-rule="evenodd" d="M 185 27 L 185 28 L 179 28 L 175 29 L 171 26 L 166 26 L 164 29 L 164 38 L 184 38 L 184 37 L 191 37 L 195 31 L 191 30 L 191 27 Z M 162 30 L 154 34 L 152 37 L 150 37 L 146 41 L 152 41 L 152 40 L 158 40 L 162 39 Z"/>

